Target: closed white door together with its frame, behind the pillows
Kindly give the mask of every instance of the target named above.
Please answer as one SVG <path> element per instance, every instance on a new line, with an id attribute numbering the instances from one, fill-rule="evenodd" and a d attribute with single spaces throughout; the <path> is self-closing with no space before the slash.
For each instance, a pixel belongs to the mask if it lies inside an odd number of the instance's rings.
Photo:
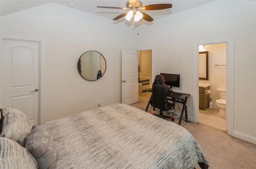
<path id="1" fill-rule="evenodd" d="M 42 38 L 1 34 L 0 107 L 17 108 L 37 125 L 45 123 L 44 44 Z"/>

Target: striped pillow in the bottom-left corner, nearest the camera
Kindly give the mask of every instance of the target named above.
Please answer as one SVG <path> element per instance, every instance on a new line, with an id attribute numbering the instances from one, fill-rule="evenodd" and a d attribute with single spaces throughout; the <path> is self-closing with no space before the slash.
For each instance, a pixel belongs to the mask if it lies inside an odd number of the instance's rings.
<path id="1" fill-rule="evenodd" d="M 16 141 L 0 137 L 0 169 L 37 169 L 36 159 Z"/>

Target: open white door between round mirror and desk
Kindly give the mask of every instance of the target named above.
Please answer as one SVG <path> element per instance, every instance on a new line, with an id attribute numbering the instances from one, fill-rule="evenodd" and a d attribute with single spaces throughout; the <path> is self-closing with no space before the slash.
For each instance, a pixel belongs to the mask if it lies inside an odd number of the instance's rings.
<path id="1" fill-rule="evenodd" d="M 137 51 L 122 50 L 122 103 L 138 102 Z"/>

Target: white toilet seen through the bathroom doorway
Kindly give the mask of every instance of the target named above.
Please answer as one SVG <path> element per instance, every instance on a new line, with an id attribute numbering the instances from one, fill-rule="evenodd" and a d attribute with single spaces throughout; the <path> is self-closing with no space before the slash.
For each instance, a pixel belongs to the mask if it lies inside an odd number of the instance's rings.
<path id="1" fill-rule="evenodd" d="M 219 108 L 219 115 L 226 117 L 226 89 L 217 88 L 219 99 L 216 100 L 216 105 Z"/>

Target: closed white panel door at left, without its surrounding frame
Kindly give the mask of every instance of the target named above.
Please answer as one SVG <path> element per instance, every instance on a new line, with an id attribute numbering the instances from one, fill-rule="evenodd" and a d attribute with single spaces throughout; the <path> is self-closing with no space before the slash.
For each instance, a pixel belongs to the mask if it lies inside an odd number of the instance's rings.
<path id="1" fill-rule="evenodd" d="M 3 39 L 2 106 L 24 112 L 39 124 L 40 43 Z"/>

